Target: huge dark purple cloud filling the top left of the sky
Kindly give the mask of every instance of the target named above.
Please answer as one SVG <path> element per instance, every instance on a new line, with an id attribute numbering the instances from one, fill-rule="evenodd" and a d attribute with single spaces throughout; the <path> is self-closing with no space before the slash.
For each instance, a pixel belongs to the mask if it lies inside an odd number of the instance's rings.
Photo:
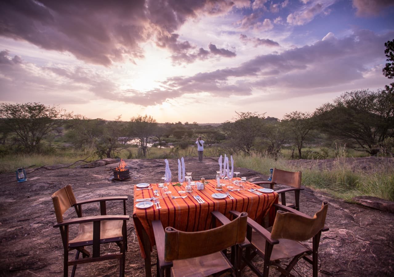
<path id="1" fill-rule="evenodd" d="M 249 5 L 246 0 L 1 1 L 0 36 L 110 66 L 143 58 L 141 44 L 155 37 L 177 56 L 178 48 L 191 47 L 173 42 L 186 20 Z"/>

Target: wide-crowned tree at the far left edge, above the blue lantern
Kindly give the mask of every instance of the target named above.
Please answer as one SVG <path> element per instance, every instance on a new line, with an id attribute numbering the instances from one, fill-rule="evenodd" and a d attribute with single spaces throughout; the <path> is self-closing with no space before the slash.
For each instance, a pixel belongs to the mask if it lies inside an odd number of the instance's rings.
<path id="1" fill-rule="evenodd" d="M 0 105 L 0 117 L 6 119 L 4 126 L 9 136 L 25 152 L 40 152 L 42 141 L 56 128 L 63 125 L 71 113 L 58 106 L 45 106 L 39 103 Z"/>

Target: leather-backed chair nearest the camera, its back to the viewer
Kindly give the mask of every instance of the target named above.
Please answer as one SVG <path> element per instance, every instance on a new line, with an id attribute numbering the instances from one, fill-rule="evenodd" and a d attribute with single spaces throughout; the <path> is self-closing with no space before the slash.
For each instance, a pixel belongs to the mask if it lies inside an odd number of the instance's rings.
<path id="1" fill-rule="evenodd" d="M 152 221 L 158 276 L 240 276 L 240 253 L 234 267 L 222 251 L 245 241 L 246 219 L 247 213 L 243 212 L 227 224 L 199 232 L 182 232 L 172 227 L 164 230 L 160 220 Z"/>

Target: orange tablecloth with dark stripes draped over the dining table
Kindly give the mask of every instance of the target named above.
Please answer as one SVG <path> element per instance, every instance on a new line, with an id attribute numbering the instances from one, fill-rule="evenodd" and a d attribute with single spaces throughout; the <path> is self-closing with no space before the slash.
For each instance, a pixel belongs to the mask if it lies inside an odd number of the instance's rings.
<path id="1" fill-rule="evenodd" d="M 148 190 L 136 190 L 134 187 L 134 212 L 133 219 L 136 226 L 136 233 L 139 240 L 139 246 L 141 256 L 146 257 L 143 244 L 141 242 L 141 231 L 139 226 L 142 225 L 143 229 L 149 235 L 151 245 L 155 245 L 154 235 L 152 230 L 152 220 L 158 220 L 163 224 L 163 227 L 174 227 L 180 231 L 203 231 L 210 229 L 211 225 L 211 212 L 217 210 L 230 218 L 229 211 L 236 210 L 238 212 L 247 212 L 248 216 L 252 219 L 262 219 L 271 208 L 272 204 L 277 201 L 278 194 L 276 192 L 263 193 L 262 195 L 256 195 L 246 190 L 241 191 L 229 191 L 229 193 L 235 199 L 226 197 L 224 199 L 215 199 L 212 197 L 213 193 L 225 193 L 228 191 L 227 186 L 223 187 L 222 191 L 215 190 L 216 180 L 206 180 L 208 184 L 205 185 L 204 190 L 196 190 L 195 194 L 199 195 L 204 201 L 204 204 L 198 203 L 190 194 L 186 198 L 172 199 L 171 195 L 179 196 L 178 191 L 185 190 L 186 183 L 184 182 L 181 187 L 173 186 L 176 182 L 171 183 L 169 191 L 171 194 L 164 198 L 159 198 L 161 209 L 156 209 L 153 205 L 150 208 L 141 209 L 137 208 L 136 199 L 154 197 L 154 190 L 159 190 L 162 195 L 162 190 L 159 188 L 159 184 L 151 184 L 152 189 Z M 249 188 L 261 188 L 250 182 L 242 183 L 245 189 Z M 232 185 L 234 186 L 234 185 Z M 234 186 L 233 189 L 239 187 Z M 182 194 L 185 195 L 185 194 Z M 156 196 L 157 197 L 157 196 Z M 136 224 L 136 220 L 139 220 L 141 224 Z"/>

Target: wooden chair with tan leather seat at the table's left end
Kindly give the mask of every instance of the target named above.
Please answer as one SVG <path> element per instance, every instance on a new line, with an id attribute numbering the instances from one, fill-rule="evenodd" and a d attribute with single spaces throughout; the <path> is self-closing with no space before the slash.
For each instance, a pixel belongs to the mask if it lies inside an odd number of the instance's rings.
<path id="1" fill-rule="evenodd" d="M 104 215 L 82 217 L 81 204 L 97 202 L 98 199 L 77 202 L 72 188 L 69 185 L 61 188 L 52 195 L 57 220 L 57 223 L 53 227 L 59 227 L 64 248 L 64 276 L 68 276 L 68 267 L 71 265 L 73 266 L 71 273 L 73 277 L 78 264 L 110 259 L 119 259 L 119 276 L 125 275 L 125 251 L 127 245 L 126 221 L 129 219 L 129 216 L 106 215 L 105 201 L 124 200 L 124 197 L 120 199 L 118 199 L 119 197 L 115 197 L 116 199 L 110 198 L 111 197 L 104 197 L 99 200 L 100 204 L 102 202 L 104 203 L 100 205 L 101 212 L 104 213 Z M 71 206 L 74 206 L 78 218 L 63 219 L 63 214 L 71 208 Z M 125 200 L 124 212 L 126 212 Z M 79 225 L 78 234 L 76 234 L 75 238 L 70 240 L 69 226 L 73 224 Z M 120 253 L 100 255 L 100 245 L 111 242 L 115 242 L 119 246 Z M 85 248 L 87 246 L 92 246 L 92 255 Z M 76 250 L 75 259 L 69 260 L 69 251 L 74 249 Z M 79 259 L 81 252 L 83 258 Z"/>

